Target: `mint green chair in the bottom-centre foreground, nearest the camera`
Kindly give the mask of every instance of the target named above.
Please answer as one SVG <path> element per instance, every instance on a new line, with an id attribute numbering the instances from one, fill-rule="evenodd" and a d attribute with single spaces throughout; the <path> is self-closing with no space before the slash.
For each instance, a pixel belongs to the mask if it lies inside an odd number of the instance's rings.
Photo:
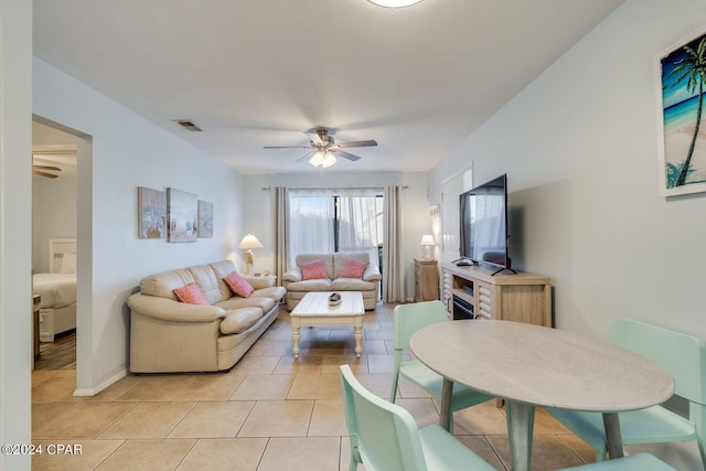
<path id="1" fill-rule="evenodd" d="M 349 365 L 340 370 L 351 471 L 357 463 L 367 471 L 495 471 L 437 424 L 417 428 L 406 409 L 365 389 Z"/>

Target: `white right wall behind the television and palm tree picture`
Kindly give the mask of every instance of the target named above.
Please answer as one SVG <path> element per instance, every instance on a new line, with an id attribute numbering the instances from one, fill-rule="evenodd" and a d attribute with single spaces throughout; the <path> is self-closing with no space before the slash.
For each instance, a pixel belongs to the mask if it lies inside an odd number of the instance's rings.
<path id="1" fill-rule="evenodd" d="M 605 339 L 624 315 L 706 338 L 706 194 L 660 196 L 653 75 L 704 24 L 702 0 L 627 1 L 432 171 L 437 199 L 470 161 L 475 183 L 507 172 L 511 255 L 553 278 L 559 329 Z M 695 449 L 672 464 L 697 469 Z"/>

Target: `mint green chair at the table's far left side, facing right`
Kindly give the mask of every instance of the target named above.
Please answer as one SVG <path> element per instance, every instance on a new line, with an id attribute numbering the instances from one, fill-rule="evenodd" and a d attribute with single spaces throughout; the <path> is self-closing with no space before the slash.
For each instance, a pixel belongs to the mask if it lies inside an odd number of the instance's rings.
<path id="1" fill-rule="evenodd" d="M 443 303 L 441 301 L 425 301 L 399 304 L 395 307 L 393 312 L 393 322 L 395 364 L 393 372 L 393 390 L 389 395 L 389 402 L 395 404 L 400 375 L 440 400 L 443 377 L 427 367 L 419 360 L 404 362 L 403 353 L 409 349 L 411 335 L 419 329 L 439 322 L 451 322 Z M 439 345 L 439 349 L 442 347 L 443 345 Z M 479 393 L 461 384 L 454 384 L 453 394 L 451 395 L 449 430 L 453 431 L 453 413 L 456 410 L 475 406 L 490 399 L 492 399 L 492 397 L 486 394 Z"/>

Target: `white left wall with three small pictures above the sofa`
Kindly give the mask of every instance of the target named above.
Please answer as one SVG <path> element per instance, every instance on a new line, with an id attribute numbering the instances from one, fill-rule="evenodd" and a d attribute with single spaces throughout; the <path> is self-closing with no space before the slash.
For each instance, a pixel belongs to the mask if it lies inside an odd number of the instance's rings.
<path id="1" fill-rule="evenodd" d="M 81 106 L 78 106 L 81 104 Z M 33 62 L 33 111 L 78 144 L 77 387 L 95 393 L 128 366 L 128 296 L 143 276 L 225 258 L 242 233 L 242 176 L 45 62 Z M 179 132 L 179 131 L 175 131 Z M 137 238 L 137 188 L 175 188 L 214 204 L 214 237 Z"/>

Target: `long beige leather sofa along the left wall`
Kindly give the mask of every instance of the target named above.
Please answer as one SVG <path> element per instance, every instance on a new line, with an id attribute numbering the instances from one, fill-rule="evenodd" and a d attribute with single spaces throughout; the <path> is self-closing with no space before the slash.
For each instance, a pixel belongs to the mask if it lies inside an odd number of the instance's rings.
<path id="1" fill-rule="evenodd" d="M 130 371 L 133 373 L 229 370 L 275 322 L 285 288 L 274 277 L 245 277 L 255 291 L 233 295 L 223 280 L 231 260 L 142 278 L 130 296 Z M 211 306 L 179 302 L 173 290 L 195 282 Z"/>

